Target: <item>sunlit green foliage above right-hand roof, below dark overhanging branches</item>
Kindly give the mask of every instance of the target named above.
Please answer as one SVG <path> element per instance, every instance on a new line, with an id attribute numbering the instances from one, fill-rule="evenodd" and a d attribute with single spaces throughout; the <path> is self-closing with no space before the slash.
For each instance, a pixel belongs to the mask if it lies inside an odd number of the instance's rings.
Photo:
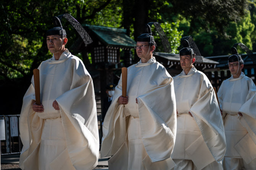
<path id="1" fill-rule="evenodd" d="M 196 25 L 196 23 L 194 23 Z M 238 22 L 229 22 L 225 28 L 226 36 L 218 34 L 215 28 L 211 28 L 211 32 L 206 32 L 205 29 L 199 27 L 194 30 L 191 36 L 197 43 L 199 51 L 203 56 L 217 56 L 231 54 L 230 48 L 234 43 L 244 43 L 248 48 L 252 48 L 252 37 L 254 24 L 251 21 L 250 11 Z M 186 28 L 185 30 L 188 30 Z M 240 48 L 239 53 L 245 53 Z"/>

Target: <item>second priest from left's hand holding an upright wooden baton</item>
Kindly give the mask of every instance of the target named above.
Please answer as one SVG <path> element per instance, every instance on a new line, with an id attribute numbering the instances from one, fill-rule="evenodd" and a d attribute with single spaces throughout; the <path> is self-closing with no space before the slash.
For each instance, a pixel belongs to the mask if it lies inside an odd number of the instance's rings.
<path id="1" fill-rule="evenodd" d="M 119 104 L 127 104 L 128 103 L 128 96 L 126 96 L 126 89 L 127 89 L 127 68 L 122 68 L 122 96 L 119 97 L 118 103 Z"/>

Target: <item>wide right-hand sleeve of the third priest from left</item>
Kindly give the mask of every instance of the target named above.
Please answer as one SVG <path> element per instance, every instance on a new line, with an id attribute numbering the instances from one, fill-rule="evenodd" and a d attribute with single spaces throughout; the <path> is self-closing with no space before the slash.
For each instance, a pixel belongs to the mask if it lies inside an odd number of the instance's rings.
<path id="1" fill-rule="evenodd" d="M 212 156 L 220 162 L 226 151 L 224 125 L 214 89 L 206 75 L 201 75 L 198 100 L 190 108 Z"/>

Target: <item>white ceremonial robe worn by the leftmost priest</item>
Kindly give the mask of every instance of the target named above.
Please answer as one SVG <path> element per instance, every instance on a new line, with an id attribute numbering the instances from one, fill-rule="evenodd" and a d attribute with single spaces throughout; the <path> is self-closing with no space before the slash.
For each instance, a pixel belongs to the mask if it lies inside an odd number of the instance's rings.
<path id="1" fill-rule="evenodd" d="M 44 112 L 34 112 L 34 78 L 20 115 L 23 149 L 19 164 L 25 170 L 91 170 L 99 157 L 99 132 L 92 78 L 83 62 L 66 50 L 40 70 Z M 60 107 L 52 107 L 56 100 Z"/>

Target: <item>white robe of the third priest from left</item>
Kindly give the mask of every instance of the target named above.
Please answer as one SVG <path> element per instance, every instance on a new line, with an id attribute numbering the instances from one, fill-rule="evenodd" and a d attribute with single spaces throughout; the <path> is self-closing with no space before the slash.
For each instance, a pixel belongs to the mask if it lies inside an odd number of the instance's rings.
<path id="1" fill-rule="evenodd" d="M 220 163 L 225 154 L 226 142 L 220 109 L 211 83 L 194 66 L 188 75 L 182 71 L 173 77 L 173 82 L 178 115 L 172 159 L 192 160 L 198 170 L 214 161 Z M 182 168 L 177 166 L 175 169 Z"/>

